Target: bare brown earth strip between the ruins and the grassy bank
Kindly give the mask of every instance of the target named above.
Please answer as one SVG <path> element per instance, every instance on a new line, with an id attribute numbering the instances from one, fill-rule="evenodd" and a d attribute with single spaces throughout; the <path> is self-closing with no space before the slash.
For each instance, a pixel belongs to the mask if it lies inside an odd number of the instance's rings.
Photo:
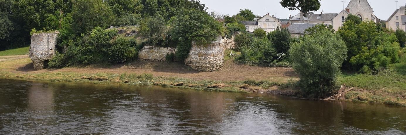
<path id="1" fill-rule="evenodd" d="M 19 59 L 27 61 L 27 55 L 18 55 Z M 25 58 L 24 58 L 25 57 Z M 7 59 L 6 61 L 15 60 L 15 57 L 0 59 Z M 0 63 L 1 64 L 1 63 Z M 135 61 L 130 64 L 112 65 L 112 66 L 97 66 L 97 67 L 80 67 L 80 68 L 61 68 L 61 69 L 44 69 L 34 70 L 32 63 L 18 63 L 13 65 L 14 68 L 6 70 L 12 72 L 25 72 L 25 73 L 42 73 L 42 72 L 78 72 L 78 73 L 135 73 L 135 74 L 153 74 L 153 76 L 166 76 L 166 77 L 179 77 L 189 78 L 192 80 L 219 80 L 219 81 L 232 81 L 232 80 L 270 80 L 274 82 L 287 82 L 289 79 L 297 79 L 298 76 L 291 68 L 269 68 L 250 66 L 245 64 L 234 63 L 232 60 L 226 61 L 224 68 L 214 72 L 197 72 L 186 65 L 181 63 L 169 62 L 148 62 L 148 61 Z"/>

